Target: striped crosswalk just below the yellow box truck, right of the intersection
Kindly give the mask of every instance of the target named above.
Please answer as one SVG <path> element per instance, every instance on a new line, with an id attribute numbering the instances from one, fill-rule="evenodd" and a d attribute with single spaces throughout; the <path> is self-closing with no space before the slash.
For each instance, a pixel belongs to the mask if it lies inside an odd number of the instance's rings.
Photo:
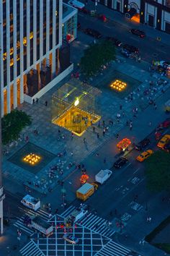
<path id="1" fill-rule="evenodd" d="M 61 216 L 63 218 L 67 218 L 75 208 L 75 206 L 71 205 L 63 213 L 61 213 Z M 84 209 L 86 208 L 86 205 L 82 204 L 80 208 Z M 83 218 L 81 218 L 79 225 L 84 226 L 86 229 L 90 229 L 91 231 L 99 233 L 103 236 L 107 236 L 107 238 L 109 238 L 113 234 L 115 234 L 115 231 L 109 228 L 107 223 L 108 221 L 104 218 L 101 218 L 93 213 L 89 213 L 88 216 L 84 216 Z"/>

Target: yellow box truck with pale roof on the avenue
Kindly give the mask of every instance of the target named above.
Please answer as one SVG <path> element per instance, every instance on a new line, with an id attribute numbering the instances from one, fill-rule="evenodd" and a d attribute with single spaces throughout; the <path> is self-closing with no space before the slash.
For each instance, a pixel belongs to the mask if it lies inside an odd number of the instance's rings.
<path id="1" fill-rule="evenodd" d="M 86 201 L 94 193 L 94 186 L 89 183 L 85 183 L 76 191 L 76 197 Z"/>

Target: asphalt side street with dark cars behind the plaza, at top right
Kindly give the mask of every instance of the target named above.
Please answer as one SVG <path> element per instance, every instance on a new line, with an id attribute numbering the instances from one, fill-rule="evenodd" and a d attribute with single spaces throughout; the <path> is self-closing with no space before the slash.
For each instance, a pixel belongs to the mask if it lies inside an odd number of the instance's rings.
<path id="1" fill-rule="evenodd" d="M 145 61 L 151 62 L 153 59 L 168 60 L 170 58 L 170 46 L 150 38 L 149 35 L 146 35 L 146 38 L 138 38 L 138 36 L 129 32 L 129 27 L 126 25 L 121 25 L 114 21 L 104 23 L 83 13 L 79 13 L 78 17 L 78 21 L 81 23 L 81 30 L 90 27 L 98 30 L 103 36 L 113 36 L 121 40 L 122 43 L 136 46 L 140 50 L 141 59 Z"/>

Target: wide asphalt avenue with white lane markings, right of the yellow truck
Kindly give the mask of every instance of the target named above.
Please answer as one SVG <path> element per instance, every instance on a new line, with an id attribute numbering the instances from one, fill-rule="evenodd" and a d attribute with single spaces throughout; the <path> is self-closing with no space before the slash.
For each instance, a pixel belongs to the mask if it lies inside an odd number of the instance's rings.
<path id="1" fill-rule="evenodd" d="M 151 144 L 148 145 L 145 150 L 158 150 L 154 132 L 155 130 L 153 130 L 151 135 L 148 135 L 151 140 Z M 165 129 L 164 134 L 167 132 L 168 129 Z M 109 143 L 111 146 L 109 147 L 107 145 L 107 148 L 108 150 L 109 148 L 112 150 L 112 140 L 110 140 Z M 112 166 L 105 167 L 112 169 L 112 176 L 105 184 L 99 185 L 99 189 L 94 193 L 94 195 L 91 195 L 89 200 L 86 200 L 86 204 L 90 205 L 91 210 L 97 210 L 99 216 L 102 216 L 103 218 L 111 218 L 109 213 L 111 211 L 112 213 L 115 213 L 115 209 L 117 209 L 119 216 L 122 216 L 126 212 L 132 215 L 134 213 L 132 205 L 135 195 L 138 195 L 138 200 L 136 201 L 140 204 L 140 209 L 148 208 L 148 201 L 151 200 L 154 195 L 146 189 L 146 178 L 144 175 L 145 162 L 139 163 L 135 160 L 139 154 L 140 152 L 138 150 L 134 149 L 130 151 L 127 155 L 128 163 L 120 169 L 112 168 Z M 113 156 L 112 163 L 116 160 L 117 156 Z M 99 166 L 97 166 L 97 156 L 95 154 L 92 161 L 94 161 L 92 166 L 96 166 L 92 170 L 88 168 L 88 164 L 91 166 L 91 163 L 87 163 L 86 165 L 87 174 L 89 175 L 88 182 L 94 182 L 95 174 L 100 171 Z M 104 165 L 101 166 L 101 168 L 104 168 Z M 80 176 L 81 173 L 76 171 L 66 179 L 65 183 L 71 184 L 75 191 L 80 186 Z M 76 202 L 78 201 L 79 200 L 76 200 Z"/>

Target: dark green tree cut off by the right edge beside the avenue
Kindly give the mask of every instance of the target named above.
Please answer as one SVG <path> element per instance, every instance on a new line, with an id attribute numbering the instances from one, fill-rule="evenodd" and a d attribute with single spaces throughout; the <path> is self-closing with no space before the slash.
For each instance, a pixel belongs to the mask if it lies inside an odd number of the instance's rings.
<path id="1" fill-rule="evenodd" d="M 158 150 L 146 161 L 147 187 L 152 192 L 170 190 L 170 155 Z"/>

